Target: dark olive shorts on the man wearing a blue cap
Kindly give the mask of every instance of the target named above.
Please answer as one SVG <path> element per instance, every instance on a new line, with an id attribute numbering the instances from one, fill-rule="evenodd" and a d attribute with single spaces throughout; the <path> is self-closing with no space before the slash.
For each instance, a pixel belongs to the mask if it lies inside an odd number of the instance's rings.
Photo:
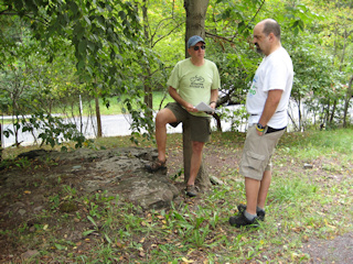
<path id="1" fill-rule="evenodd" d="M 175 118 L 175 123 L 170 123 L 173 128 L 175 128 L 179 123 L 185 122 L 186 120 L 190 121 L 191 127 L 191 141 L 197 142 L 208 142 L 211 128 L 210 128 L 210 118 L 205 117 L 195 117 L 183 109 L 176 102 L 170 102 L 165 106 L 169 110 L 171 110 Z"/>

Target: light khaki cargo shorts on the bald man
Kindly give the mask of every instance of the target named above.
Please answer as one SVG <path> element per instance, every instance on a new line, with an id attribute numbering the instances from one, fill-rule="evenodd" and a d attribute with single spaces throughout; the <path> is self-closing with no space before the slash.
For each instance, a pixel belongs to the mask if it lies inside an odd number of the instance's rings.
<path id="1" fill-rule="evenodd" d="M 263 134 L 256 132 L 256 125 L 248 128 L 242 155 L 239 173 L 248 178 L 261 180 L 265 170 L 271 170 L 271 156 L 285 129 Z"/>

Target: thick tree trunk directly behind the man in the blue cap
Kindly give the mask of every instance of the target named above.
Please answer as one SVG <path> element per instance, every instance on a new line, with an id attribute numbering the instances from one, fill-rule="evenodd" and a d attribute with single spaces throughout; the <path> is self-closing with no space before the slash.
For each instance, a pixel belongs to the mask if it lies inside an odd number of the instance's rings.
<path id="1" fill-rule="evenodd" d="M 184 0 L 184 8 L 186 11 L 185 57 L 189 57 L 188 40 L 191 36 L 200 35 L 202 38 L 205 38 L 205 18 L 208 0 Z M 183 157 L 185 184 L 190 178 L 191 154 L 191 129 L 189 122 L 183 122 Z M 211 187 L 211 180 L 203 166 L 203 162 L 200 166 L 195 184 L 203 191 Z"/>

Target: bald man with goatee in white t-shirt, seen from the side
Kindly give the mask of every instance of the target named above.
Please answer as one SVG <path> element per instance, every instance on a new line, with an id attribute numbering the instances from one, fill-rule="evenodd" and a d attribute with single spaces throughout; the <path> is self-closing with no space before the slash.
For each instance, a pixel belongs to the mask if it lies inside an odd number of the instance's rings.
<path id="1" fill-rule="evenodd" d="M 275 20 L 256 24 L 253 43 L 265 57 L 246 99 L 249 119 L 239 173 L 245 177 L 247 205 L 239 205 L 238 216 L 229 218 L 235 227 L 256 226 L 265 219 L 271 156 L 288 124 L 287 108 L 293 81 L 292 62 L 281 46 L 280 26 Z"/>

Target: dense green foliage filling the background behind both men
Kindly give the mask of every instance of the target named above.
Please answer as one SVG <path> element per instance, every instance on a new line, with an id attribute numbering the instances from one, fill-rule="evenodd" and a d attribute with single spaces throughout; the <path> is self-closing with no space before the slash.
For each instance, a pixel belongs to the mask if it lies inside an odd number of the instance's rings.
<path id="1" fill-rule="evenodd" d="M 244 103 L 261 59 L 253 51 L 253 28 L 274 18 L 295 64 L 293 128 L 345 124 L 352 9 L 349 0 L 210 1 L 206 56 L 222 76 L 218 107 Z M 39 114 L 44 123 L 53 113 L 73 118 L 82 114 L 78 98 L 86 105 L 104 98 L 106 107 L 119 103 L 131 113 L 133 131 L 148 135 L 151 110 L 162 106 L 152 105 L 152 94 L 164 90 L 171 68 L 184 57 L 182 0 L 1 0 L 0 23 L 0 109 L 14 117 L 15 134 L 20 123 L 30 125 L 25 114 Z M 124 99 L 109 101 L 114 96 Z M 90 109 L 89 116 L 99 116 L 97 105 Z M 242 119 L 244 111 L 221 118 L 229 116 Z"/>

